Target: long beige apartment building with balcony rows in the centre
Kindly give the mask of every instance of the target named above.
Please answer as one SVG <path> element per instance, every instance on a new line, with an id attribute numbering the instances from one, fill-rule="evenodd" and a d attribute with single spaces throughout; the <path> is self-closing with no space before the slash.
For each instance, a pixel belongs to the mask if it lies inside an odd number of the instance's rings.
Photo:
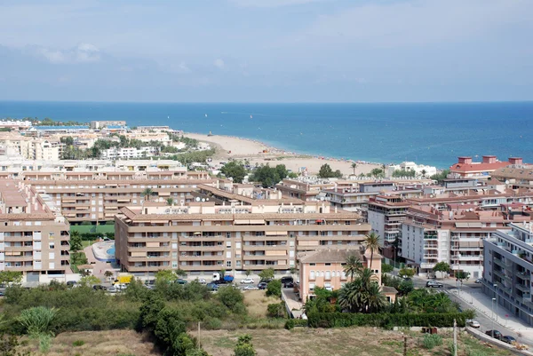
<path id="1" fill-rule="evenodd" d="M 287 273 L 298 253 L 354 249 L 370 225 L 324 202 L 147 202 L 115 218 L 116 258 L 139 276 L 180 268 L 191 275 L 272 267 Z"/>

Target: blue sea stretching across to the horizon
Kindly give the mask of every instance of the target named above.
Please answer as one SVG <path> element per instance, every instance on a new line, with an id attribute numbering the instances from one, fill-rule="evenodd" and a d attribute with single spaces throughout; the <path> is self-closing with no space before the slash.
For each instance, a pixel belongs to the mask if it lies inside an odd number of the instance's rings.
<path id="1" fill-rule="evenodd" d="M 533 162 L 533 102 L 183 104 L 0 101 L 0 118 L 50 117 L 253 138 L 286 150 L 449 167 L 459 155 Z M 475 158 L 474 158 L 475 160 Z M 481 158 L 480 158 L 481 160 Z"/>

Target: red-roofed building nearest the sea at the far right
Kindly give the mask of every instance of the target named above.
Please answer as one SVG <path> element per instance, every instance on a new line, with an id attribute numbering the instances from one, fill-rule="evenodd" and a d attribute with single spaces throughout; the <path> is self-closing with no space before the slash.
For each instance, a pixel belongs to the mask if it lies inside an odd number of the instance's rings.
<path id="1" fill-rule="evenodd" d="M 479 178 L 488 179 L 495 170 L 508 165 L 522 164 L 520 157 L 509 158 L 508 162 L 500 162 L 495 155 L 484 155 L 481 162 L 473 162 L 472 157 L 458 157 L 457 163 L 449 167 L 454 178 Z"/>

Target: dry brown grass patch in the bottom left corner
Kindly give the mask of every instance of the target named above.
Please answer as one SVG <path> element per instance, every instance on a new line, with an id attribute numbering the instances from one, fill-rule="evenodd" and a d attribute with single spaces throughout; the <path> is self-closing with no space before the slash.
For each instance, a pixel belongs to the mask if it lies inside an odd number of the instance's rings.
<path id="1" fill-rule="evenodd" d="M 74 346 L 78 340 L 84 342 Z M 28 342 L 25 350 L 32 355 L 44 355 L 38 351 L 37 340 L 25 339 Z M 82 344 L 82 343 L 80 343 Z M 62 333 L 52 340 L 47 356 L 160 356 L 147 336 L 133 330 L 82 331 Z"/>

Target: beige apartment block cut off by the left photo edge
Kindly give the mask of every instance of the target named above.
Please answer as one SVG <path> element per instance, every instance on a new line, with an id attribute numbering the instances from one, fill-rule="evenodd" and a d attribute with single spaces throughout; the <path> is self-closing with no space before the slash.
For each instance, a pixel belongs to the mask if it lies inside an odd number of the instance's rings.
<path id="1" fill-rule="evenodd" d="M 70 271 L 69 228 L 50 197 L 20 181 L 0 180 L 0 271 L 25 282 L 64 281 Z"/>

